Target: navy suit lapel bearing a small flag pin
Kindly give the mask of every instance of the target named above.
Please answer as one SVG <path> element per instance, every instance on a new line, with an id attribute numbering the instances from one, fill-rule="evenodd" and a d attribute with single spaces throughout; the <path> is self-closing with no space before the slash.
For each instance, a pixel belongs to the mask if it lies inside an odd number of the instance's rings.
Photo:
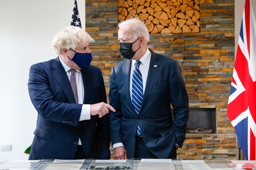
<path id="1" fill-rule="evenodd" d="M 151 52 L 151 59 L 150 59 L 150 65 L 148 70 L 148 78 L 147 78 L 147 83 L 146 83 L 146 87 L 143 95 L 143 101 L 140 107 L 140 112 L 148 100 L 148 96 L 151 92 L 151 89 L 153 87 L 153 84 L 157 76 L 157 72 L 160 68 L 160 62 L 157 62 L 160 58 L 157 56 L 157 53 L 153 52 L 152 50 L 150 50 L 150 52 Z M 156 67 L 154 67 L 155 65 Z"/>

